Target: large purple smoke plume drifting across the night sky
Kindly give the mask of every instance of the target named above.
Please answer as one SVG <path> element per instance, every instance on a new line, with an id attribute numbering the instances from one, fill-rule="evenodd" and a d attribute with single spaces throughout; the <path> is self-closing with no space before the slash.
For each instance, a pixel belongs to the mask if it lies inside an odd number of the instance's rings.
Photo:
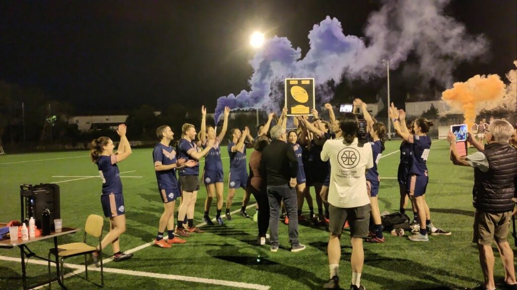
<path id="1" fill-rule="evenodd" d="M 284 98 L 286 77 L 314 77 L 318 103 L 332 99 L 327 83 L 339 84 L 343 77 L 369 79 L 384 76 L 382 59 L 390 59 L 397 69 L 410 53 L 418 58 L 419 74 L 449 86 L 453 69 L 462 61 L 472 60 L 488 49 L 483 36 L 470 36 L 465 26 L 444 15 L 449 0 L 386 1 L 381 10 L 371 13 L 364 31 L 366 40 L 344 35 L 341 23 L 327 16 L 309 32 L 310 49 L 301 59 L 299 47 L 293 48 L 285 37 L 267 39 L 250 65 L 250 90 L 217 100 L 214 119 L 217 123 L 224 107 L 262 108 L 279 111 Z M 368 43 L 368 44 L 367 44 Z"/>

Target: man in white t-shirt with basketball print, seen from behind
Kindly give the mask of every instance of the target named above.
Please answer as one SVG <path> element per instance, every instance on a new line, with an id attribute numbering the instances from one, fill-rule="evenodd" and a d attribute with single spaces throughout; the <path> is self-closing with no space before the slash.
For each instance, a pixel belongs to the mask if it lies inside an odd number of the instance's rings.
<path id="1" fill-rule="evenodd" d="M 321 152 L 323 161 L 330 160 L 330 186 L 328 203 L 330 212 L 328 261 L 330 280 L 324 288 L 339 288 L 340 238 L 345 221 L 350 225 L 352 237 L 351 289 L 364 289 L 360 284 L 364 252 L 362 239 L 368 237 L 370 225 L 370 199 L 366 186 L 366 171 L 373 167 L 370 143 L 359 143 L 356 138 L 358 121 L 353 113 L 340 120 L 340 138 L 327 140 Z"/>

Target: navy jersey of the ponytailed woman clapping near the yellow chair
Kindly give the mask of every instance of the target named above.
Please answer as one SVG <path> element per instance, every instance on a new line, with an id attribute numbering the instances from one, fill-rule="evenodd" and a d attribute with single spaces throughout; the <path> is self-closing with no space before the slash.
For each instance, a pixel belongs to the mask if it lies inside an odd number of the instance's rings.
<path id="1" fill-rule="evenodd" d="M 120 181 L 120 172 L 117 166 L 117 155 L 102 155 L 97 160 L 97 168 L 99 169 L 100 179 L 102 180 L 102 194 L 120 194 L 122 193 L 122 182 Z"/>

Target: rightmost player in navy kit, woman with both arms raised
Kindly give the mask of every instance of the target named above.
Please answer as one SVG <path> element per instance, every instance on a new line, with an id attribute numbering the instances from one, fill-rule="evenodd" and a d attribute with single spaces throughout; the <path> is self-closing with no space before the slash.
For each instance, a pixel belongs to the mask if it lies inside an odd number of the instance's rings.
<path id="1" fill-rule="evenodd" d="M 412 241 L 428 241 L 428 231 L 431 235 L 450 235 L 450 232 L 435 228 L 431 223 L 431 212 L 429 206 L 425 202 L 425 189 L 429 183 L 429 174 L 427 169 L 427 159 L 431 150 L 431 138 L 427 136 L 430 128 L 434 125 L 432 121 L 425 118 L 418 118 L 413 125 L 415 134 L 402 132 L 399 121 L 400 112 L 391 103 L 388 109 L 393 127 L 404 140 L 412 144 L 412 164 L 409 169 L 409 179 L 407 181 L 409 197 L 414 201 L 418 219 L 420 223 L 419 233 L 409 236 Z M 424 227 L 425 225 L 425 227 Z"/>

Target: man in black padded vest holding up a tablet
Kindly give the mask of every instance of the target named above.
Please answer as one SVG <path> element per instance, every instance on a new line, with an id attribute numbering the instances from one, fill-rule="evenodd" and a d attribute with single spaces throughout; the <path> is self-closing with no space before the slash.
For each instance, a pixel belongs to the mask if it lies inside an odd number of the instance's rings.
<path id="1" fill-rule="evenodd" d="M 504 120 L 493 120 L 485 129 L 488 144 L 478 143 L 470 134 L 468 141 L 479 152 L 460 157 L 456 149 L 456 138 L 449 132 L 447 141 L 451 144 L 452 162 L 455 165 L 474 167 L 474 238 L 478 245 L 479 261 L 484 283 L 473 289 L 495 289 L 494 253 L 495 239 L 501 260 L 505 267 L 505 289 L 517 289 L 513 252 L 507 237 L 511 213 L 515 206 L 515 181 L 517 180 L 517 150 L 508 144 L 513 127 Z"/>

